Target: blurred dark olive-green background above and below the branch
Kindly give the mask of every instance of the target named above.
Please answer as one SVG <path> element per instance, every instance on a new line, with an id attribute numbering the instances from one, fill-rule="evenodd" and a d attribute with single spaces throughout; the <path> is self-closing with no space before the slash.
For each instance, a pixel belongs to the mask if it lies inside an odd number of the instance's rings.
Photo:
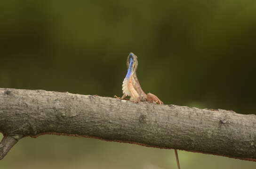
<path id="1" fill-rule="evenodd" d="M 165 104 L 255 113 L 255 0 L 2 0 L 0 87 L 121 96 L 126 58 Z M 2 136 L 1 136 L 2 137 Z M 179 151 L 182 169 L 256 162 Z M 1 169 L 176 169 L 173 150 L 45 135 Z"/>

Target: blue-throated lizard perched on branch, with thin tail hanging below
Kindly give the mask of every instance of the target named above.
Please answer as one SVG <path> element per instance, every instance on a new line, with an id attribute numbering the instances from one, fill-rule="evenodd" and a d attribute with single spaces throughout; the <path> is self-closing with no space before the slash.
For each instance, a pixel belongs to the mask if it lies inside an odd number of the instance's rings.
<path id="1" fill-rule="evenodd" d="M 128 68 L 127 74 L 122 84 L 123 96 L 121 98 L 118 96 L 114 96 L 114 97 L 118 99 L 125 99 L 127 96 L 130 96 L 130 101 L 133 101 L 133 102 L 148 101 L 148 102 L 157 103 L 160 105 L 164 104 L 156 95 L 152 93 L 146 94 L 142 90 L 136 74 L 136 71 L 138 68 L 138 60 L 137 60 L 137 56 L 133 53 L 130 53 L 128 55 L 127 68 Z M 178 152 L 176 149 L 174 149 L 174 151 L 175 151 L 177 166 L 178 166 L 178 169 L 180 169 Z"/>

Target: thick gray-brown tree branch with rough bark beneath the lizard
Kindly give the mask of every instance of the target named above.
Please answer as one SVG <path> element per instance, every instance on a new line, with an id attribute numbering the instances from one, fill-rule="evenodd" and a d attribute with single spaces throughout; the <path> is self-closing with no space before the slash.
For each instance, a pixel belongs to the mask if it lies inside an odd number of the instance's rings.
<path id="1" fill-rule="evenodd" d="M 0 132 L 1 158 L 22 137 L 59 134 L 256 161 L 256 115 L 221 109 L 0 88 Z"/>

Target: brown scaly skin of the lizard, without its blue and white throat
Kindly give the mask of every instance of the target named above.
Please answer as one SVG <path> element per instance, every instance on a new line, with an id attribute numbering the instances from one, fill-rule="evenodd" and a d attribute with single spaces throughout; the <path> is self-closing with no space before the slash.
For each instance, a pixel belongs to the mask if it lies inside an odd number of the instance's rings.
<path id="1" fill-rule="evenodd" d="M 138 66 L 137 56 L 135 54 L 130 53 L 127 58 L 127 67 L 129 68 L 129 61 L 132 57 L 133 65 L 131 66 L 131 75 L 128 78 L 128 91 L 130 92 L 130 101 L 139 102 L 139 101 L 148 101 L 151 103 L 164 104 L 156 95 L 152 93 L 147 93 L 142 90 L 140 83 L 138 81 L 136 70 Z M 114 96 L 118 99 L 125 99 L 127 97 L 127 93 L 123 90 L 123 96 L 121 98 Z"/>

